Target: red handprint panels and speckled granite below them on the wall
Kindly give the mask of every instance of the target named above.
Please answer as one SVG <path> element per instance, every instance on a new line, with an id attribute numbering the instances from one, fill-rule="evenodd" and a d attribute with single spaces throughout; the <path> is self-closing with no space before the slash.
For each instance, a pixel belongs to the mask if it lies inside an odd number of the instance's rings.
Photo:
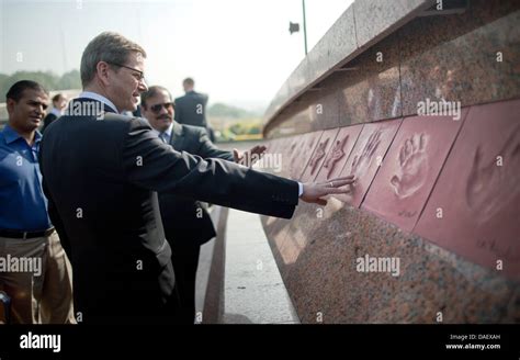
<path id="1" fill-rule="evenodd" d="M 519 322 L 519 110 L 511 100 L 465 108 L 459 121 L 407 116 L 271 140 L 283 176 L 358 179 L 325 207 L 262 218 L 302 322 Z M 399 259 L 398 275 L 360 272 L 366 255 Z"/>

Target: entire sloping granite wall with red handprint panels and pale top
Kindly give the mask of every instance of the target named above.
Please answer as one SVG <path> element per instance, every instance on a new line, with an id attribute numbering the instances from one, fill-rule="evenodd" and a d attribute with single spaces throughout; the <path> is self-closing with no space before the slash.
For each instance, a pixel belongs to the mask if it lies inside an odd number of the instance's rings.
<path id="1" fill-rule="evenodd" d="M 520 322 L 520 1 L 434 3 L 355 1 L 267 112 L 267 171 L 357 178 L 262 218 L 303 323 Z"/>

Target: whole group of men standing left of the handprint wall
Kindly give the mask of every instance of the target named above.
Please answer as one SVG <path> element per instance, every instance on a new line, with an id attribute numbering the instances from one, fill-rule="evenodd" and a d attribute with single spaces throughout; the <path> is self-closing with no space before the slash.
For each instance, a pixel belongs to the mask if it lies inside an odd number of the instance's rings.
<path id="1" fill-rule="evenodd" d="M 221 150 L 206 130 L 207 97 L 192 79 L 174 101 L 148 88 L 145 60 L 142 46 L 105 32 L 82 54 L 83 92 L 68 108 L 56 95 L 46 116 L 48 92 L 30 80 L 7 93 L 4 322 L 193 324 L 200 247 L 215 236 L 203 202 L 290 218 L 299 200 L 323 205 L 349 191 L 352 177 L 301 183 L 245 166 L 263 146 Z M 143 117 L 126 115 L 139 102 Z"/>

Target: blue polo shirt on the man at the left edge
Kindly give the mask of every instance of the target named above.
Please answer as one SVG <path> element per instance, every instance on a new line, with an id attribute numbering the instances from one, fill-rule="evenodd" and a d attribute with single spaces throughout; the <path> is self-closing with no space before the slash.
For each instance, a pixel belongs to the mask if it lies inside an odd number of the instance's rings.
<path id="1" fill-rule="evenodd" d="M 36 132 L 30 146 L 9 125 L 0 132 L 0 229 L 32 232 L 52 226 L 38 165 L 41 140 Z"/>

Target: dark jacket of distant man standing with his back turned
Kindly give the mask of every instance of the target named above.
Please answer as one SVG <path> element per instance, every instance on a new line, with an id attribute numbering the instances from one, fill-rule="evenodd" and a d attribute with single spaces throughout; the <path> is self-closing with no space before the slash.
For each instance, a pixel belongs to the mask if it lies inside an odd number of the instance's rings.
<path id="1" fill-rule="evenodd" d="M 176 121 L 179 124 L 206 127 L 207 95 L 195 91 L 176 99 Z M 197 112 L 202 109 L 202 112 Z"/>

